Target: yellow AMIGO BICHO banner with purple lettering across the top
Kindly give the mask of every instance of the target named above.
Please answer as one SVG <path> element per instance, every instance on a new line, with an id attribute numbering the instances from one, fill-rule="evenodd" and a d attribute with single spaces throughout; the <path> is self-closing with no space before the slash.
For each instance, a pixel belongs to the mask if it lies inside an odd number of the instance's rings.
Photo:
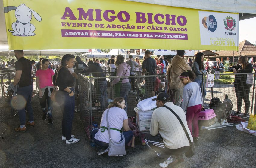
<path id="1" fill-rule="evenodd" d="M 122 0 L 4 0 L 10 49 L 238 50 L 238 13 Z"/>

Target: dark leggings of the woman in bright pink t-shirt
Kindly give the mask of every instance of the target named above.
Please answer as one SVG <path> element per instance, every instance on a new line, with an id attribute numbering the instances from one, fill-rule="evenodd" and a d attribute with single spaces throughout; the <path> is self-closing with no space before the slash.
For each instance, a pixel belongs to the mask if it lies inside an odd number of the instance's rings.
<path id="1" fill-rule="evenodd" d="M 53 89 L 51 88 L 50 91 L 52 92 Z M 51 97 L 48 96 L 48 93 L 49 93 L 48 89 L 45 89 L 44 95 L 42 96 L 42 98 L 40 98 L 40 106 L 43 113 L 47 113 L 48 111 L 48 116 L 51 118 L 52 117 L 52 100 L 51 100 Z M 48 110 L 46 108 L 46 101 L 47 101 Z"/>

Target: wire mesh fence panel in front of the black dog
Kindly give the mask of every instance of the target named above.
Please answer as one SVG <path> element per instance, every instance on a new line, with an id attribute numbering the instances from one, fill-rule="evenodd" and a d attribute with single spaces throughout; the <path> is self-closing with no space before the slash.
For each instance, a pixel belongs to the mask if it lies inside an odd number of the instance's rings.
<path id="1" fill-rule="evenodd" d="M 214 109 L 216 123 L 210 127 L 234 124 L 236 118 L 231 115 L 238 115 L 248 119 L 248 115 L 254 113 L 255 101 L 255 74 L 241 73 L 234 74 L 221 72 L 213 74 L 213 81 L 206 76 L 206 97 L 204 107 Z M 213 87 L 207 87 L 214 82 Z M 248 114 L 248 115 L 245 115 Z"/>

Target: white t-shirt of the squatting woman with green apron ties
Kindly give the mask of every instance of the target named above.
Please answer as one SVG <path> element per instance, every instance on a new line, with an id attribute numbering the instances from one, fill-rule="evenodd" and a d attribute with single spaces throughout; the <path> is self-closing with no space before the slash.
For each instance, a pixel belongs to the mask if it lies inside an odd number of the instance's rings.
<path id="1" fill-rule="evenodd" d="M 107 127 L 107 110 L 105 110 L 102 114 L 101 125 Z M 123 121 L 128 119 L 127 113 L 119 108 L 119 107 L 111 107 L 108 112 L 108 122 L 110 128 L 116 128 L 121 130 L 123 127 Z M 108 130 L 106 129 L 104 132 L 101 132 L 101 129 L 95 134 L 95 139 L 99 141 L 103 141 L 105 143 L 109 143 Z M 110 137 L 112 140 L 119 142 L 121 140 L 121 133 L 117 130 L 110 130 Z"/>

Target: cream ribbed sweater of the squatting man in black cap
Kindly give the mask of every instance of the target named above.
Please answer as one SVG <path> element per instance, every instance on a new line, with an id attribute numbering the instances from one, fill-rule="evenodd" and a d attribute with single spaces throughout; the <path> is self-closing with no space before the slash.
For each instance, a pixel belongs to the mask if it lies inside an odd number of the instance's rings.
<path id="1" fill-rule="evenodd" d="M 172 102 L 167 102 L 164 105 L 170 107 L 180 117 L 186 127 L 191 142 L 193 142 L 192 135 L 187 125 L 186 116 L 182 108 L 174 105 Z M 189 146 L 189 140 L 179 120 L 165 107 L 155 109 L 152 114 L 150 134 L 156 136 L 158 132 L 162 136 L 165 146 L 169 149 L 178 149 L 184 146 Z"/>

